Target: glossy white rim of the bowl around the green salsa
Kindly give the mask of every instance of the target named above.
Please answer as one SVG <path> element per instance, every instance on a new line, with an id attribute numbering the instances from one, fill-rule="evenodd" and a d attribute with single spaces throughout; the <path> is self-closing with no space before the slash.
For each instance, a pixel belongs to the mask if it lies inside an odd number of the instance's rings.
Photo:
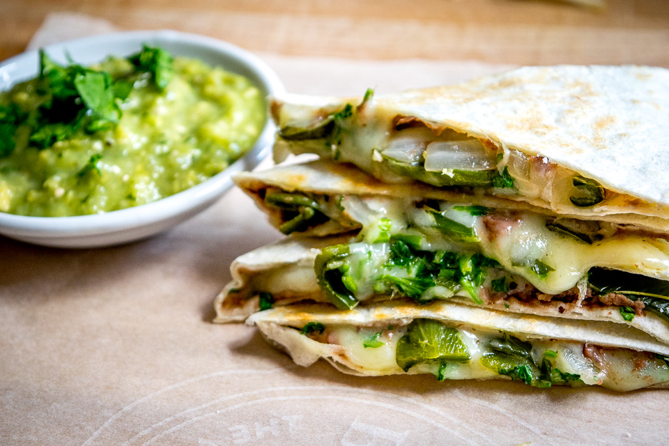
<path id="1" fill-rule="evenodd" d="M 52 45 L 46 45 L 43 49 L 51 53 L 64 52 L 68 46 L 95 46 L 102 42 L 109 46 L 114 45 L 114 43 L 124 43 L 127 40 L 137 40 L 140 44 L 143 40 L 147 41 L 147 43 L 150 43 L 149 41 L 157 41 L 157 45 L 160 45 L 160 43 L 172 42 L 185 43 L 187 45 L 193 45 L 194 47 L 210 49 L 214 52 L 224 54 L 226 58 L 232 59 L 236 63 L 240 63 L 241 66 L 249 68 L 249 70 L 254 73 L 254 76 L 257 77 L 257 80 L 262 84 L 257 85 L 259 82 L 255 82 L 256 85 L 265 90 L 266 95 L 275 95 L 285 91 L 283 83 L 274 70 L 272 70 L 265 61 L 255 54 L 248 52 L 246 49 L 216 38 L 201 36 L 194 33 L 184 33 L 171 29 L 160 29 L 155 31 L 115 31 L 113 33 L 65 40 Z M 0 63 L 0 73 L 2 70 L 7 70 L 8 66 L 14 64 L 25 64 L 29 63 L 31 60 L 37 61 L 38 51 L 38 49 L 30 49 L 2 61 Z M 109 54 L 103 54 L 100 60 L 108 55 Z M 34 73 L 33 76 L 36 74 L 37 73 Z M 12 76 L 11 72 L 9 73 L 9 76 Z M 16 77 L 15 79 L 10 79 L 10 83 L 15 84 L 17 82 L 22 82 L 22 80 L 25 79 Z M 245 155 L 208 180 L 205 180 L 198 185 L 194 185 L 193 187 L 189 187 L 181 192 L 177 192 L 176 194 L 172 194 L 169 197 L 164 197 L 157 201 L 152 201 L 151 203 L 133 206 L 132 208 L 112 210 L 105 213 L 90 215 L 35 217 L 0 212 L 0 229 L 10 229 L 13 234 L 20 234 L 23 236 L 33 235 L 36 232 L 39 233 L 40 237 L 58 237 L 73 233 L 76 233 L 77 236 L 84 236 L 105 231 L 130 229 L 136 226 L 144 226 L 146 224 L 151 224 L 151 222 L 175 217 L 181 213 L 186 213 L 187 210 L 202 206 L 206 201 L 212 200 L 219 193 L 220 188 L 225 187 L 226 183 L 230 182 L 231 174 L 247 168 L 245 167 L 245 164 L 249 162 L 249 157 L 254 158 L 254 165 L 256 165 L 264 156 L 268 155 L 274 132 L 275 125 L 272 123 L 270 116 L 267 116 L 265 127 L 256 139 L 256 143 L 251 150 L 245 153 Z M 184 201 L 189 201 L 189 206 L 184 208 Z M 180 206 L 177 206 L 178 204 L 180 204 Z M 7 233 L 6 235 L 9 234 Z"/>

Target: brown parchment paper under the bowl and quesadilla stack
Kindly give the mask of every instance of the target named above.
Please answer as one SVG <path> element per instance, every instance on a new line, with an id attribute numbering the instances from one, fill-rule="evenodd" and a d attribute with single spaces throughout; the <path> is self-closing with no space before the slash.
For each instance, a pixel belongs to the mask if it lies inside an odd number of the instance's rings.
<path id="1" fill-rule="evenodd" d="M 33 45 L 91 24 L 75 18 L 50 17 Z M 500 69 L 263 56 L 298 93 L 392 91 Z M 0 444 L 669 443 L 667 391 L 358 378 L 323 362 L 297 367 L 254 328 L 210 323 L 231 261 L 279 237 L 231 190 L 131 245 L 66 250 L 0 238 Z"/>

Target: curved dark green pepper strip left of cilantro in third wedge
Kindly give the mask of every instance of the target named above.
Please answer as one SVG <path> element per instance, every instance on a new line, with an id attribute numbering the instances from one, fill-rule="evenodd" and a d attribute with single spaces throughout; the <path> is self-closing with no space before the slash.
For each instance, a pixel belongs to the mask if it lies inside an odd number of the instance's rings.
<path id="1" fill-rule="evenodd" d="M 355 295 L 343 282 L 344 259 L 348 257 L 348 245 L 333 245 L 323 248 L 314 261 L 318 286 L 330 303 L 339 309 L 352 309 L 358 303 Z"/>

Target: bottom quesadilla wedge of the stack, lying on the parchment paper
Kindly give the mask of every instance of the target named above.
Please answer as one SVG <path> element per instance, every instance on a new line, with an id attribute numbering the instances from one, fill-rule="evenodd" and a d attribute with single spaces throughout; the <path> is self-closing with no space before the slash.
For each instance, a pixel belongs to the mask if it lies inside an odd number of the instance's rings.
<path id="1" fill-rule="evenodd" d="M 610 323 L 519 316 L 432 302 L 348 312 L 291 305 L 251 316 L 302 366 L 319 358 L 348 374 L 434 374 L 439 380 L 512 378 L 534 387 L 665 387 L 669 346 Z"/>

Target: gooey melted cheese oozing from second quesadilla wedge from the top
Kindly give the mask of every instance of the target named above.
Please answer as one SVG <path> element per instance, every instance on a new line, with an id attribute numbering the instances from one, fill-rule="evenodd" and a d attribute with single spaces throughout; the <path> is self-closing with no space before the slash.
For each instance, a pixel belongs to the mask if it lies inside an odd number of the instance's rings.
<path id="1" fill-rule="evenodd" d="M 420 249 L 426 251 L 479 252 L 547 294 L 573 288 L 593 267 L 669 279 L 669 244 L 639 233 L 613 233 L 585 243 L 548 229 L 549 219 L 544 215 L 492 209 L 483 210 L 486 215 L 472 215 L 468 206 L 440 203 L 436 209 L 440 215 L 472 231 L 475 241 L 461 243 L 439 228 L 434 210 L 417 206 L 415 200 L 344 197 L 341 204 L 363 225 L 360 242 L 350 245 L 348 261 L 349 275 L 361 280 L 373 279 L 375 270 L 377 277 L 383 275 L 387 268 L 390 242 L 377 242 L 384 230 L 383 219 L 390 221 L 391 238 L 397 234 L 420 237 Z M 537 262 L 547 267 L 545 272 L 536 268 Z M 369 289 L 369 284 L 360 288 Z"/>

